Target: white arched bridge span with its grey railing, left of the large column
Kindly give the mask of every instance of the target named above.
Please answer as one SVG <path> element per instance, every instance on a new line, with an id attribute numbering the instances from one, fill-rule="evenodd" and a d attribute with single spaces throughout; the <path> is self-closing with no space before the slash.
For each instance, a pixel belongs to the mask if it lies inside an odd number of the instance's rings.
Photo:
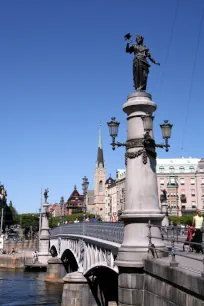
<path id="1" fill-rule="evenodd" d="M 118 273 L 115 257 L 123 240 L 124 226 L 121 222 L 81 222 L 56 227 L 50 231 L 50 251 L 73 263 L 83 275 L 89 275 L 98 267 Z M 74 271 L 75 267 L 69 267 Z M 68 269 L 68 270 L 69 270 Z"/>

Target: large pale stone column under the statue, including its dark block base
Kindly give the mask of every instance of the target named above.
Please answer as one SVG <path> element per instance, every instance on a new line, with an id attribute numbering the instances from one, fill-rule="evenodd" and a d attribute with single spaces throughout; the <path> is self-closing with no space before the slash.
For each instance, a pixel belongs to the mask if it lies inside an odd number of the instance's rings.
<path id="1" fill-rule="evenodd" d="M 119 267 L 121 306 L 143 303 L 143 260 L 148 255 L 149 244 L 147 224 L 150 220 L 153 225 L 161 225 L 164 217 L 159 209 L 155 149 L 150 146 L 147 152 L 143 146 L 143 117 L 152 115 L 155 110 L 156 104 L 146 92 L 135 91 L 128 96 L 127 102 L 123 105 L 128 122 L 126 200 L 125 210 L 121 216 L 125 229 L 116 261 Z M 150 131 L 150 136 L 154 138 L 153 131 Z M 152 228 L 152 236 L 161 238 L 159 228 Z M 156 248 L 164 248 L 160 239 L 154 238 L 152 243 Z"/>

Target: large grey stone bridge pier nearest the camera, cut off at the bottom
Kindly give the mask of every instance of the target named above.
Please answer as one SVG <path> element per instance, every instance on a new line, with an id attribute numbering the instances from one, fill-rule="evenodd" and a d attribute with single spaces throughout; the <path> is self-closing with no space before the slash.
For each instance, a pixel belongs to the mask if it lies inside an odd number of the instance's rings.
<path id="1" fill-rule="evenodd" d="M 61 306 L 97 306 L 87 279 L 80 272 L 67 274 L 64 278 Z"/>

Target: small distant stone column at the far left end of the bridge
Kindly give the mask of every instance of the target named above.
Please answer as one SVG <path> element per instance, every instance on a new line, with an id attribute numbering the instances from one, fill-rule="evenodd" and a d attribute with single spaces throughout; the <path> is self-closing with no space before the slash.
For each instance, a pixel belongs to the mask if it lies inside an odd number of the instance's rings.
<path id="1" fill-rule="evenodd" d="M 39 241 L 39 253 L 38 260 L 43 264 L 47 264 L 48 259 L 51 257 L 49 253 L 49 220 L 47 214 L 47 208 L 49 204 L 43 204 L 42 223 L 40 229 L 40 241 Z"/>

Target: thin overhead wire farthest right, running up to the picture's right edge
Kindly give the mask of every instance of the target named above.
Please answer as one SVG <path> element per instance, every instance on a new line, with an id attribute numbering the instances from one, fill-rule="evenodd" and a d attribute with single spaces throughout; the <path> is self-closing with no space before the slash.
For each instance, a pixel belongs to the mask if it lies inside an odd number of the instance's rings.
<path id="1" fill-rule="evenodd" d="M 196 45 L 196 50 L 195 50 L 195 57 L 194 57 L 194 61 L 193 61 L 193 70 L 192 70 L 192 75 L 191 75 L 191 80 L 190 80 L 190 89 L 189 89 L 189 96 L 188 96 L 188 102 L 187 102 L 187 107 L 186 107 L 186 115 L 185 115 L 184 128 L 183 128 L 183 136 L 182 136 L 182 141 L 181 141 L 181 150 L 183 150 L 183 145 L 184 145 L 184 140 L 185 140 L 186 124 L 187 124 L 187 119 L 188 119 L 189 106 L 190 106 L 190 102 L 191 102 L 193 80 L 194 80 L 194 75 L 195 75 L 196 61 L 197 61 L 197 58 L 198 58 L 198 50 L 199 50 L 199 45 L 200 45 L 200 38 L 201 38 L 201 33 L 202 33 L 203 20 L 204 20 L 204 8 L 203 8 L 202 15 L 201 15 L 201 21 L 200 21 L 199 32 L 198 32 L 198 40 L 197 40 L 197 45 Z"/>

